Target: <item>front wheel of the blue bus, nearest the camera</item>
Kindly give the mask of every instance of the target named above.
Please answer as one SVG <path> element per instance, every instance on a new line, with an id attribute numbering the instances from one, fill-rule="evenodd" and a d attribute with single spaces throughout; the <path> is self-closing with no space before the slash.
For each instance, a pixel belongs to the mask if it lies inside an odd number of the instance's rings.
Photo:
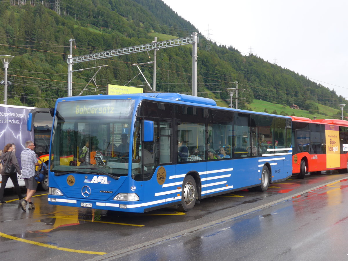
<path id="1" fill-rule="evenodd" d="M 196 181 L 191 175 L 187 175 L 182 183 L 181 204 L 178 205 L 178 210 L 181 212 L 192 210 L 196 203 L 196 196 Z"/>

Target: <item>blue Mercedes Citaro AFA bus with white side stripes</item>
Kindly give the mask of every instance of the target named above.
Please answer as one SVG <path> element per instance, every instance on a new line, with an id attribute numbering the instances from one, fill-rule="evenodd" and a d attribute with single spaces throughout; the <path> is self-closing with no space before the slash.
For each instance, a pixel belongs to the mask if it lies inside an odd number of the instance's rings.
<path id="1" fill-rule="evenodd" d="M 52 205 L 186 212 L 198 200 L 266 191 L 292 175 L 290 117 L 177 93 L 59 98 L 47 112 Z"/>

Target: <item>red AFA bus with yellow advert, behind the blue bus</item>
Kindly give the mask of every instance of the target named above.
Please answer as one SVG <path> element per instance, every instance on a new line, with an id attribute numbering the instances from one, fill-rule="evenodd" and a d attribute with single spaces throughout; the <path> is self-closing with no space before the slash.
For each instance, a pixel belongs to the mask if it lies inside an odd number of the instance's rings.
<path id="1" fill-rule="evenodd" d="M 293 122 L 292 173 L 348 172 L 348 121 L 291 116 Z"/>

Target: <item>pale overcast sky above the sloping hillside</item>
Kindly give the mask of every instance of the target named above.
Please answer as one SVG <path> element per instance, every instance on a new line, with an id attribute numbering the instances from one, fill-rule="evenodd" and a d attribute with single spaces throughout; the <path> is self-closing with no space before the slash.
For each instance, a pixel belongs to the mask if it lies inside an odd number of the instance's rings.
<path id="1" fill-rule="evenodd" d="M 348 1 L 163 1 L 218 45 L 251 48 L 348 99 Z"/>

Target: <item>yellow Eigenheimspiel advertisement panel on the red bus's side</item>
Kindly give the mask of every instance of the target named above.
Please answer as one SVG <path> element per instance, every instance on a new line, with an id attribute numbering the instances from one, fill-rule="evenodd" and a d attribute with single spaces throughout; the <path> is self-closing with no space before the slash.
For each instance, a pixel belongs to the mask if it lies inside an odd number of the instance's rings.
<path id="1" fill-rule="evenodd" d="M 326 168 L 340 167 L 340 135 L 339 127 L 325 125 Z"/>

